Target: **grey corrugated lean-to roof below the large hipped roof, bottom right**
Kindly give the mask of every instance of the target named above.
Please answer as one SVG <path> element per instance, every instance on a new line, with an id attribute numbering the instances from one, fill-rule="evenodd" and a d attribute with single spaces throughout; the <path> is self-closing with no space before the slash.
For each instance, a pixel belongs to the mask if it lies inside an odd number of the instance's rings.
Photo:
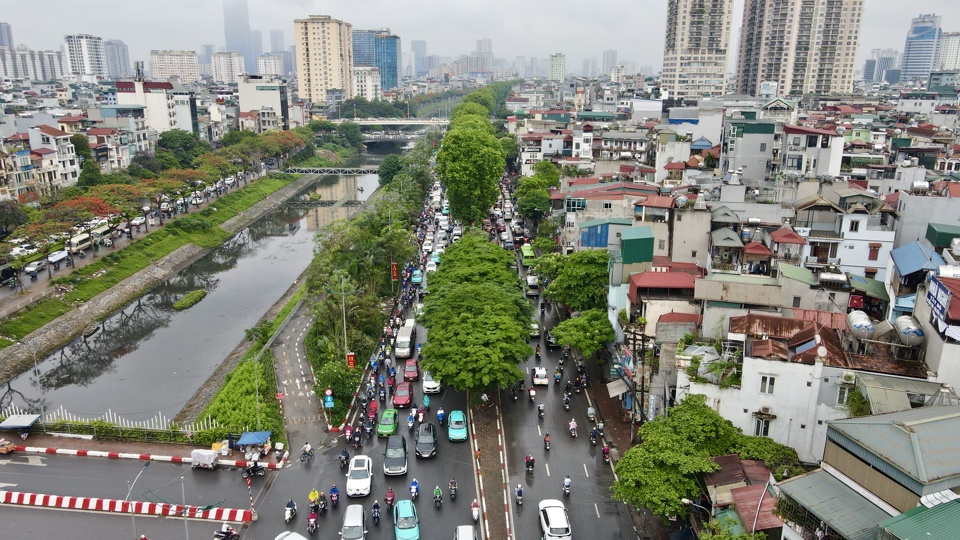
<path id="1" fill-rule="evenodd" d="M 876 540 L 880 523 L 890 517 L 823 469 L 784 480 L 781 492 L 847 540 Z"/>

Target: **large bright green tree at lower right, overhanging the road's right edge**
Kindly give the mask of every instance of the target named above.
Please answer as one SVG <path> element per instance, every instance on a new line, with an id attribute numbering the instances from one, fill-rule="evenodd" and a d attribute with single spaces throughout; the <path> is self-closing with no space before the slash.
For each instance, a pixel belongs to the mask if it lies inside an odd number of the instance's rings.
<path id="1" fill-rule="evenodd" d="M 666 520 L 686 512 L 681 499 L 697 499 L 697 478 L 719 469 L 713 456 L 729 453 L 740 431 L 706 404 L 702 395 L 688 395 L 670 410 L 640 428 L 641 444 L 617 462 L 613 496 L 649 508 Z"/>

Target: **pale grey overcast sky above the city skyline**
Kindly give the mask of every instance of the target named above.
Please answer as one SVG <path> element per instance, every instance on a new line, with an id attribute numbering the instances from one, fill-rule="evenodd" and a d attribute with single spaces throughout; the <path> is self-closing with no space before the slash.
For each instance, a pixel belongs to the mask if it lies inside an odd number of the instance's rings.
<path id="1" fill-rule="evenodd" d="M 870 49 L 902 50 L 910 19 L 920 13 L 943 16 L 944 31 L 960 31 L 957 0 L 865 0 L 857 68 Z M 12 25 L 14 41 L 33 49 L 57 49 L 65 34 L 120 39 L 130 60 L 149 60 L 151 49 L 199 50 L 223 45 L 221 0 L 3 0 L 0 21 Z M 426 40 L 427 54 L 468 54 L 481 38 L 493 40 L 493 53 L 516 56 L 567 55 L 568 71 L 584 59 L 615 49 L 618 60 L 659 67 L 663 57 L 666 0 L 248 0 L 250 25 L 262 30 L 265 50 L 270 30 L 282 29 L 289 47 L 293 20 L 331 15 L 354 29 L 389 27 L 410 50 Z M 736 48 L 743 0 L 735 0 L 731 49 Z M 951 9 L 953 8 L 953 9 Z M 731 63 L 732 66 L 732 63 Z"/>

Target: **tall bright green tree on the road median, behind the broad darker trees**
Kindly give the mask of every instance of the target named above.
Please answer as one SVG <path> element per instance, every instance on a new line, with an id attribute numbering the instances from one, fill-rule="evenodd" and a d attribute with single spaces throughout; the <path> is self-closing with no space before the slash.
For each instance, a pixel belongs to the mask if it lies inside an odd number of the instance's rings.
<path id="1" fill-rule="evenodd" d="M 489 133 L 452 130 L 437 153 L 437 172 L 447 186 L 453 218 L 462 223 L 479 223 L 500 196 L 503 150 Z"/>

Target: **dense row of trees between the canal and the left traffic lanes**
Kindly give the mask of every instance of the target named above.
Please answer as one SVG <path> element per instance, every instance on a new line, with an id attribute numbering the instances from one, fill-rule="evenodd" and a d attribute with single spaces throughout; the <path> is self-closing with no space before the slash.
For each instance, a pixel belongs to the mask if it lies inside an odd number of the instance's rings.
<path id="1" fill-rule="evenodd" d="M 430 157 L 437 137 L 428 135 L 404 156 L 391 158 L 396 169 L 386 181 L 381 178 L 376 200 L 351 220 L 331 223 L 317 235 L 309 276 L 309 293 L 317 298 L 312 306 L 315 321 L 306 345 L 317 390 L 333 390 L 333 423 L 346 415 L 363 376 L 362 369 L 347 368 L 344 339 L 358 366 L 365 365 L 386 323 L 381 298 L 396 286 L 391 265 L 402 268 L 416 256 L 412 225 L 423 204 L 423 186 L 431 181 Z"/>

